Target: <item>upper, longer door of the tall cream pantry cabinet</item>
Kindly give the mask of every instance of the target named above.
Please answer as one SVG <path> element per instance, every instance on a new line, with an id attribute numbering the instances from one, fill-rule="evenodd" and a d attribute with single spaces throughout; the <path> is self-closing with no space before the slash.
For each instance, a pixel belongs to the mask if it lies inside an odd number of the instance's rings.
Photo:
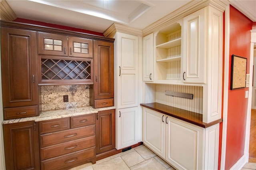
<path id="1" fill-rule="evenodd" d="M 138 37 L 117 33 L 117 106 L 138 106 Z"/>

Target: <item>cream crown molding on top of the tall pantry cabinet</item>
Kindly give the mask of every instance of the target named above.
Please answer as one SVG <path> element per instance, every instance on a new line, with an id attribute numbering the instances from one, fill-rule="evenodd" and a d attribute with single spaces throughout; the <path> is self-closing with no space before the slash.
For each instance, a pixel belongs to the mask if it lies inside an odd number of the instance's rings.
<path id="1" fill-rule="evenodd" d="M 135 36 L 142 36 L 142 30 L 128 27 L 122 24 L 113 23 L 104 33 L 105 37 L 113 38 L 116 32 L 122 32 L 127 34 L 132 34 Z"/>

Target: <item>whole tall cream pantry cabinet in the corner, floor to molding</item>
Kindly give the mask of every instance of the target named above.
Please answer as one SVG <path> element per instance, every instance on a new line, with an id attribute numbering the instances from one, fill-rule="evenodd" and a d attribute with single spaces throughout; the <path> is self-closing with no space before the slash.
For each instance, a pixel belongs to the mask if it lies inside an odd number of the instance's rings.
<path id="1" fill-rule="evenodd" d="M 142 141 L 142 33 L 126 33 L 120 24 L 108 30 L 115 38 L 116 148 L 122 149 Z"/>

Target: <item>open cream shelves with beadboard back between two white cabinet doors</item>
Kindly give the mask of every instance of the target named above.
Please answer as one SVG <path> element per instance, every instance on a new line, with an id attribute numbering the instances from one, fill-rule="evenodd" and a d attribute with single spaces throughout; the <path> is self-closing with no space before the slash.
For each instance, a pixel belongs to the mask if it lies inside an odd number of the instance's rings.
<path id="1" fill-rule="evenodd" d="M 182 66 L 181 25 L 172 24 L 154 34 L 155 81 L 180 81 Z"/>

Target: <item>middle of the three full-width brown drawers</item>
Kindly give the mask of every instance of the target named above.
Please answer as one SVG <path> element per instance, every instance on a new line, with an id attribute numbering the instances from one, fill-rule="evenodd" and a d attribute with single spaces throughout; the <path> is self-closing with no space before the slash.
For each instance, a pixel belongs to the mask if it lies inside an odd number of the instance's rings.
<path id="1" fill-rule="evenodd" d="M 46 148 L 41 148 L 41 160 L 53 158 L 55 156 L 60 156 L 63 154 L 68 154 L 71 152 L 75 152 L 78 150 L 90 148 L 92 146 L 95 146 L 96 140 L 94 136 L 89 136 L 86 138 L 78 139 L 78 140 L 72 140 L 65 143 L 60 143 L 54 146 L 49 146 Z"/>

